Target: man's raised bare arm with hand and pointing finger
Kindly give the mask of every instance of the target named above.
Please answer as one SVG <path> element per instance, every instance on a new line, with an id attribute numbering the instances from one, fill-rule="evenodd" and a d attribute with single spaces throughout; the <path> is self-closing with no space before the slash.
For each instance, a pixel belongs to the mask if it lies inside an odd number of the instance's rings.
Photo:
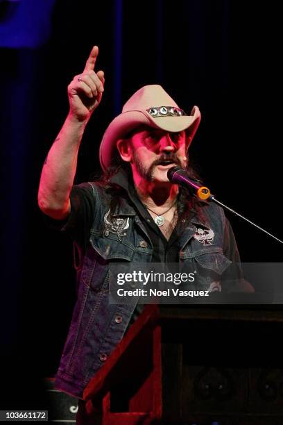
<path id="1" fill-rule="evenodd" d="M 38 190 L 40 209 L 54 219 L 65 219 L 71 210 L 69 194 L 74 183 L 78 148 L 85 126 L 101 102 L 103 71 L 94 72 L 98 47 L 94 46 L 82 74 L 68 85 L 69 114 L 46 156 Z"/>

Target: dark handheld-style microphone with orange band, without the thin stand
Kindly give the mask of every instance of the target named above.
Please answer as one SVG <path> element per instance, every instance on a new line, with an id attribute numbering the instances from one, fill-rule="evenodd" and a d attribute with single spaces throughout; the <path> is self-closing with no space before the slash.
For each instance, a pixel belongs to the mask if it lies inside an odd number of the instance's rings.
<path id="1" fill-rule="evenodd" d="M 198 199 L 213 199 L 213 195 L 210 193 L 209 188 L 198 183 L 198 181 L 191 179 L 185 169 L 181 167 L 169 168 L 167 172 L 168 180 L 171 183 L 185 186 L 185 188 L 193 189 Z"/>

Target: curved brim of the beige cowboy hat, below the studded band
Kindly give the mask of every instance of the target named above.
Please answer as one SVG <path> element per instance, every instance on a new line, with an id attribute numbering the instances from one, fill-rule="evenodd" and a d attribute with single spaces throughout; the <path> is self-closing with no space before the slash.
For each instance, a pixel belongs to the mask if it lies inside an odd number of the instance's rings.
<path id="1" fill-rule="evenodd" d="M 125 137 L 130 131 L 141 124 L 160 128 L 164 131 L 177 132 L 186 131 L 188 147 L 194 138 L 200 123 L 200 110 L 197 106 L 191 110 L 191 115 L 180 117 L 156 117 L 153 118 L 147 111 L 131 110 L 121 113 L 110 122 L 103 135 L 99 149 L 99 160 L 105 172 L 112 165 L 114 151 L 117 141 Z"/>

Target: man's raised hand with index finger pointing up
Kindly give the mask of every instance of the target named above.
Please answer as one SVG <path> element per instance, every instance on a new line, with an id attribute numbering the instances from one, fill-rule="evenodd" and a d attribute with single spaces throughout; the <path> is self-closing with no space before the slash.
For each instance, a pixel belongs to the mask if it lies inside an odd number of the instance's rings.
<path id="1" fill-rule="evenodd" d="M 101 102 L 104 91 L 104 72 L 94 72 L 98 47 L 94 46 L 85 64 L 83 74 L 76 75 L 68 85 L 69 115 L 87 121 Z"/>

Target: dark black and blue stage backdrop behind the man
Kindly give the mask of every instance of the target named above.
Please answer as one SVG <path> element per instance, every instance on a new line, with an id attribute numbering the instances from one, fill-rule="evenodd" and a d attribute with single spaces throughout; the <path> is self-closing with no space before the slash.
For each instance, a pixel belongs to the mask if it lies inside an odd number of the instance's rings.
<path id="1" fill-rule="evenodd" d="M 9 7 L 0 2 L 0 26 Z M 282 239 L 280 19 L 275 1 L 58 0 L 42 42 L 1 42 L 3 408 L 45 406 L 42 377 L 55 374 L 76 299 L 71 242 L 45 226 L 37 188 L 67 115 L 67 85 L 92 46 L 105 93 L 76 183 L 100 171 L 101 137 L 123 103 L 159 83 L 188 113 L 200 108 L 191 158 L 212 192 Z M 243 261 L 282 260 L 282 244 L 228 217 Z"/>

